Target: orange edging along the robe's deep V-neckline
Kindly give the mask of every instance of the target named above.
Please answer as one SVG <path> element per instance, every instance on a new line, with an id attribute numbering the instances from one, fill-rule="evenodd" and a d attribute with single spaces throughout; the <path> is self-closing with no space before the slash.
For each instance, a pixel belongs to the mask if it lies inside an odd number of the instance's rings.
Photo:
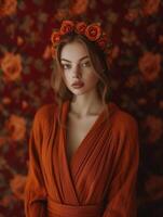
<path id="1" fill-rule="evenodd" d="M 62 114 L 62 119 L 64 122 L 64 124 L 66 125 L 67 120 L 68 120 L 68 112 L 69 112 L 69 107 L 70 107 L 70 101 L 66 101 L 63 104 L 63 114 Z M 66 161 L 67 161 L 67 165 L 68 167 L 71 167 L 73 165 L 74 158 L 78 156 L 78 154 L 80 153 L 80 151 L 83 148 L 83 144 L 85 142 L 85 140 L 91 136 L 91 133 L 93 132 L 94 129 L 96 129 L 96 127 L 101 123 L 100 120 L 103 120 L 105 115 L 105 108 L 99 113 L 98 117 L 95 119 L 95 122 L 93 123 L 93 125 L 91 126 L 91 128 L 89 129 L 87 133 L 85 135 L 85 137 L 81 140 L 80 144 L 78 145 L 78 148 L 76 149 L 76 151 L 72 153 L 70 159 L 68 159 L 68 153 L 67 153 L 67 130 L 65 128 L 63 128 L 63 132 L 64 132 L 64 149 L 65 149 L 65 156 L 66 156 Z"/>

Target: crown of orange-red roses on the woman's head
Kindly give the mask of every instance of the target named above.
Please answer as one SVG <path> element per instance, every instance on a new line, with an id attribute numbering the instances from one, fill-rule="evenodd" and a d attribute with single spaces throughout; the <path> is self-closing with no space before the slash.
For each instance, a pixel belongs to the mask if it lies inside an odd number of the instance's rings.
<path id="1" fill-rule="evenodd" d="M 55 56 L 55 50 L 56 47 L 59 44 L 62 36 L 72 31 L 85 36 L 90 41 L 96 42 L 96 44 L 98 44 L 98 47 L 106 54 L 110 53 L 112 43 L 108 38 L 107 34 L 101 29 L 99 23 L 92 23 L 90 25 L 86 25 L 85 22 L 73 22 L 66 20 L 63 21 L 59 30 L 54 29 L 54 31 L 51 35 L 53 56 Z"/>

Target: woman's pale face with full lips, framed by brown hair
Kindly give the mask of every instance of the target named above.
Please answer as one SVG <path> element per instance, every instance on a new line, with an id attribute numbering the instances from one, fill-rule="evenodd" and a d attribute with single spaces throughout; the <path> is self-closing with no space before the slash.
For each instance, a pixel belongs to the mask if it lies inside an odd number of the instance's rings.
<path id="1" fill-rule="evenodd" d="M 83 94 L 96 88 L 99 78 L 82 42 L 74 41 L 64 46 L 60 64 L 64 81 L 73 94 Z"/>

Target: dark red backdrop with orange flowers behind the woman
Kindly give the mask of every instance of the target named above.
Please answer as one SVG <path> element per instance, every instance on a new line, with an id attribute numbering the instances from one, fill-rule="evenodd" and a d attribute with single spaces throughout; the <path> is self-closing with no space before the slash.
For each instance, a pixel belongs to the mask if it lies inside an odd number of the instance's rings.
<path id="1" fill-rule="evenodd" d="M 23 217 L 35 112 L 54 101 L 50 36 L 63 18 L 101 22 L 111 98 L 139 125 L 138 216 L 163 216 L 163 0 L 0 0 L 0 217 Z"/>

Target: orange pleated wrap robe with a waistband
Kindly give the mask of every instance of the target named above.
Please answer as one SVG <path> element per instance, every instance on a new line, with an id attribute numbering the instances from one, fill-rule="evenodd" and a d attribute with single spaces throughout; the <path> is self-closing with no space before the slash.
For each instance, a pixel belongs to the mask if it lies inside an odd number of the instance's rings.
<path id="1" fill-rule="evenodd" d="M 62 107 L 67 120 L 69 101 Z M 139 158 L 135 118 L 116 103 L 103 111 L 68 163 L 57 106 L 41 107 L 29 141 L 26 217 L 135 217 Z"/>

